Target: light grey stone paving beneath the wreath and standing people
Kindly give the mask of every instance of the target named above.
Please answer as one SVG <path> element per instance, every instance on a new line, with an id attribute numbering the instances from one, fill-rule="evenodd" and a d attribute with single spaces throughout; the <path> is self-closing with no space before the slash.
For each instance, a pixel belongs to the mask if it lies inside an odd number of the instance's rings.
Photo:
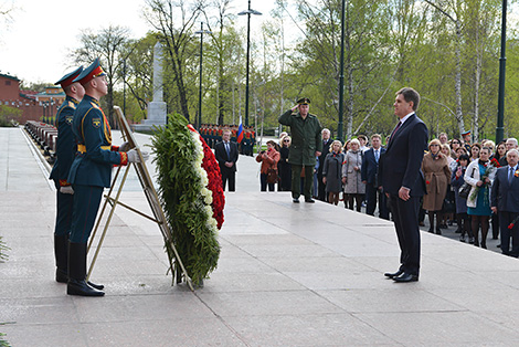
<path id="1" fill-rule="evenodd" d="M 142 143 L 146 138 L 140 138 Z M 114 135 L 114 138 L 117 138 Z M 519 262 L 422 233 L 417 283 L 396 284 L 391 223 L 326 203 L 257 192 L 240 157 L 226 196 L 219 269 L 191 293 L 171 286 L 156 225 L 118 209 L 93 281 L 55 283 L 54 191 L 20 129 L 0 128 L 0 332 L 12 346 L 515 346 Z M 11 153 L 12 151 L 12 153 Z M 121 200 L 147 209 L 131 185 Z M 135 186 L 134 186 L 135 187 Z"/>

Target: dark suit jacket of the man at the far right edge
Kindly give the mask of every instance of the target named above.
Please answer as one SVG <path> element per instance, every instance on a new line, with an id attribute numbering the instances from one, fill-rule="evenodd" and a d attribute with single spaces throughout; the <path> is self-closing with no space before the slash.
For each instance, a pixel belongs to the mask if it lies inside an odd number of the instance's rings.
<path id="1" fill-rule="evenodd" d="M 518 166 L 519 168 L 519 166 Z M 508 182 L 509 166 L 497 169 L 491 189 L 491 206 L 498 212 L 519 212 L 519 177 Z"/>

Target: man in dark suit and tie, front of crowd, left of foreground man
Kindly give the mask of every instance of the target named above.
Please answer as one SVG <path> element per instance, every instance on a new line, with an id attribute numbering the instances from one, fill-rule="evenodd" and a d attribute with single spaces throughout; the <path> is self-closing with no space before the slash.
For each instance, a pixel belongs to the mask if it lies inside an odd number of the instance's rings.
<path id="1" fill-rule="evenodd" d="M 382 148 L 382 136 L 374 134 L 371 136 L 371 148 L 364 151 L 362 157 L 362 168 L 360 176 L 366 185 L 366 199 L 368 200 L 366 213 L 374 215 L 377 201 L 379 202 L 379 217 L 389 219 L 388 207 L 385 206 L 385 194 L 381 189 L 379 177 L 379 162 L 385 148 Z"/>

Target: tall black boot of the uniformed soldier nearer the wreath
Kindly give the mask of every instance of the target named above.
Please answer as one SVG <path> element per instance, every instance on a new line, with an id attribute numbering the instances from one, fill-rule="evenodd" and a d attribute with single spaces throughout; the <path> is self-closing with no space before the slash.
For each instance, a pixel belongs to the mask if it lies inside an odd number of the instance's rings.
<path id="1" fill-rule="evenodd" d="M 66 294 L 103 296 L 104 292 L 89 286 L 86 281 L 86 243 L 68 243 L 68 283 Z"/>

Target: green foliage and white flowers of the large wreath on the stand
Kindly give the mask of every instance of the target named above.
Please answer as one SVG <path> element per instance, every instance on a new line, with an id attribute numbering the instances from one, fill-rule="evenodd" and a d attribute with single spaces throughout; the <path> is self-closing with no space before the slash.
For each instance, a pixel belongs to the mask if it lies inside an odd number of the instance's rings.
<path id="1" fill-rule="evenodd" d="M 212 197 L 201 167 L 203 144 L 198 133 L 188 128 L 181 115 L 170 115 L 167 127 L 160 127 L 152 144 L 158 169 L 159 196 L 166 219 L 188 275 L 195 285 L 216 269 L 220 256 L 218 223 L 212 217 Z M 211 153 L 212 155 L 212 153 Z M 170 261 L 174 254 L 166 243 Z M 174 262 L 179 278 L 181 271 Z M 174 273 L 173 273 L 174 278 Z"/>

